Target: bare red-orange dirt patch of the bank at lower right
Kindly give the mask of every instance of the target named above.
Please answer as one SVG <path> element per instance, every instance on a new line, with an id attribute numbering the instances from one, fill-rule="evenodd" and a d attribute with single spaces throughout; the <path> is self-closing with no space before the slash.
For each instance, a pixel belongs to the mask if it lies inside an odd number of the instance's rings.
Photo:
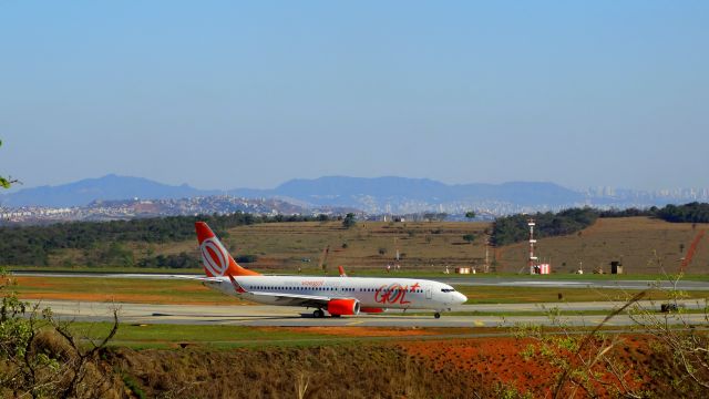
<path id="1" fill-rule="evenodd" d="M 590 345 L 578 354 L 556 348 L 543 355 L 538 344 L 532 338 L 499 337 L 407 341 L 399 346 L 434 374 L 482 381 L 484 387 L 495 387 L 497 396 L 513 392 L 512 397 L 553 397 L 562 376 L 557 361 L 572 365 L 573 370 L 562 385 L 561 397 L 631 397 L 630 393 L 646 397 L 651 393 L 650 397 L 669 398 L 707 393 L 690 383 L 689 377 L 672 366 L 672 354 L 662 352 L 648 336 L 621 336 L 619 344 L 607 351 L 603 351 L 603 346 Z M 530 351 L 533 346 L 536 351 Z M 586 368 L 582 359 L 592 366 Z M 592 375 L 598 380 L 584 381 Z M 677 383 L 682 385 L 679 391 Z"/>

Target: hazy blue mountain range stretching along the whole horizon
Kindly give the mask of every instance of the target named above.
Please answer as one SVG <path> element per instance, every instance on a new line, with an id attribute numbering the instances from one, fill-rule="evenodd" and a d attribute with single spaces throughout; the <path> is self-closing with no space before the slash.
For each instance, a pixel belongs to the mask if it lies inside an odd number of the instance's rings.
<path id="1" fill-rule="evenodd" d="M 650 206 L 702 200 L 705 192 L 666 195 L 620 191 L 576 192 L 554 183 L 512 182 L 503 184 L 444 184 L 428 178 L 326 176 L 291 180 L 273 190 L 198 190 L 183 184 L 172 186 L 142 177 L 110 174 L 58 186 L 23 188 L 0 195 L 6 207 L 85 206 L 95 201 L 169 200 L 232 195 L 246 198 L 279 198 L 305 207 L 351 207 L 368 213 L 463 213 L 479 209 L 491 214 L 558 209 L 569 206 Z"/>

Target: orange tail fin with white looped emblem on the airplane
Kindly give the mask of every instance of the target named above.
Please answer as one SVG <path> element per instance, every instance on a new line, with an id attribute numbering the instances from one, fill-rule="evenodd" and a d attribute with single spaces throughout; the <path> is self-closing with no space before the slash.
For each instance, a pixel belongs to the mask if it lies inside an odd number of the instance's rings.
<path id="1" fill-rule="evenodd" d="M 195 229 L 202 253 L 202 265 L 207 277 L 260 276 L 260 273 L 239 266 L 206 223 L 196 222 Z"/>

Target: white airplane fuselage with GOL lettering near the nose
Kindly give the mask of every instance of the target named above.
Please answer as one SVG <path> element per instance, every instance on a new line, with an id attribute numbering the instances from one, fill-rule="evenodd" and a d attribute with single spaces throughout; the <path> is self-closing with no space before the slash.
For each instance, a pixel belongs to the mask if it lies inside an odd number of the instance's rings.
<path id="1" fill-rule="evenodd" d="M 238 276 L 245 293 L 227 277 L 205 282 L 210 288 L 267 305 L 281 305 L 278 296 L 314 296 L 356 299 L 366 308 L 448 310 L 467 298 L 446 284 L 414 278 Z"/>

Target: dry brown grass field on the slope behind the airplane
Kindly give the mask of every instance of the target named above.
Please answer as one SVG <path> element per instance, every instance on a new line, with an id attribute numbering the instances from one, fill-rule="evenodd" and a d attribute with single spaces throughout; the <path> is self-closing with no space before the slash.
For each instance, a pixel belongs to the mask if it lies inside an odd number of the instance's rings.
<path id="1" fill-rule="evenodd" d="M 402 270 L 438 274 L 445 266 L 451 272 L 459 266 L 482 270 L 490 229 L 490 223 L 470 222 L 367 222 L 351 229 L 342 228 L 339 222 L 270 223 L 232 228 L 223 241 L 235 255 L 256 255 L 258 260 L 247 266 L 266 273 L 297 273 L 298 268 L 304 273 L 319 273 L 318 260 L 322 249 L 329 246 L 326 264 L 330 273 L 335 273 L 338 265 L 346 266 L 352 274 L 383 273 L 399 249 Z M 709 224 L 667 223 L 648 217 L 600 218 L 578 234 L 540 239 L 537 255 L 552 263 L 555 275 L 568 275 L 579 267 L 585 272 L 584 277 L 599 268 L 608 273 L 612 260 L 621 262 L 629 275 L 660 273 L 657 260 L 667 272 L 675 273 L 695 237 L 706 229 Z M 475 235 L 472 244 L 463 241 L 466 234 Z M 127 247 L 136 259 L 146 254 L 197 255 L 195 239 L 162 245 L 130 243 Z M 491 248 L 491 269 L 526 272 L 527 250 L 526 243 Z M 51 256 L 50 266 L 81 265 L 80 257 L 75 250 L 60 250 Z M 178 273 L 183 272 L 186 270 Z M 699 242 L 686 273 L 709 274 L 709 235 Z"/>

